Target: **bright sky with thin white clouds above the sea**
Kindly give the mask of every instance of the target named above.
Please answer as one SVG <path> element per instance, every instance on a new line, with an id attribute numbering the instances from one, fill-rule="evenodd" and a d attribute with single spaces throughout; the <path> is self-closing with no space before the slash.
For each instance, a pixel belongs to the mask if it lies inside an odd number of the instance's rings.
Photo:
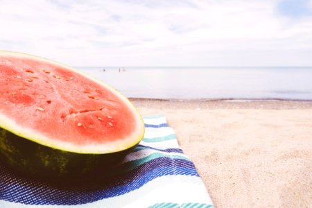
<path id="1" fill-rule="evenodd" d="M 73 67 L 312 66 L 312 0 L 0 0 L 0 25 Z"/>

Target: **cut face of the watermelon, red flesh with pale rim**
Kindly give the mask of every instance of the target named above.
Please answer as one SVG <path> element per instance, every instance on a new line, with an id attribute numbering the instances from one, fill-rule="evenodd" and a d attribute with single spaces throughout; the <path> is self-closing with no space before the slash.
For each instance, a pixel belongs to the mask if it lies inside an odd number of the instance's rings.
<path id="1" fill-rule="evenodd" d="M 64 64 L 0 53 L 1 128 L 74 153 L 113 153 L 135 144 L 144 124 L 112 87 Z"/>

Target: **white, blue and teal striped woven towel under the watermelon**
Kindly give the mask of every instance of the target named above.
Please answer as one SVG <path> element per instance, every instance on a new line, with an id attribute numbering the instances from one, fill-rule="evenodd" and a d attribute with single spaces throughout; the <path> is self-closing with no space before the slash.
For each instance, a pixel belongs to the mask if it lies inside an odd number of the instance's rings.
<path id="1" fill-rule="evenodd" d="M 140 144 L 96 184 L 51 184 L 0 164 L 0 207 L 213 207 L 193 162 L 159 114 L 144 116 Z"/>

